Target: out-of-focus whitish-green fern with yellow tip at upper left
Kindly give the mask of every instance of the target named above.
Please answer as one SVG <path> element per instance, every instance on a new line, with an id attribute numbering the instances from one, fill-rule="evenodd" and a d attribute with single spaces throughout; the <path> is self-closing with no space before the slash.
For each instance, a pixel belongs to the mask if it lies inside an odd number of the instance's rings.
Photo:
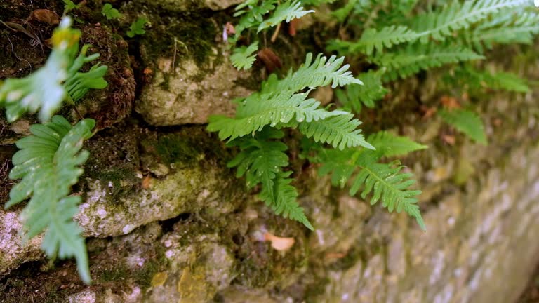
<path id="1" fill-rule="evenodd" d="M 86 56 L 89 46 L 84 46 L 75 58 L 81 32 L 69 28 L 71 23 L 70 18 L 64 18 L 55 29 L 51 39 L 53 51 L 44 67 L 22 79 L 7 79 L 0 86 L 0 107 L 6 107 L 9 122 L 37 110 L 40 121 L 48 121 L 69 94 L 73 100 L 79 100 L 88 89 L 107 86 L 102 79 L 107 72 L 105 65 L 95 65 L 90 72 L 78 72 L 85 62 L 99 55 Z"/>

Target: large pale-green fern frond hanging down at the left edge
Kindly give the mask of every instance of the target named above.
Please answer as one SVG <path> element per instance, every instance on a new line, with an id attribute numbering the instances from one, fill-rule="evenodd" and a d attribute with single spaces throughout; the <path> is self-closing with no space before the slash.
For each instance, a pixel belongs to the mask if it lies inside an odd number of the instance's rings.
<path id="1" fill-rule="evenodd" d="M 6 208 L 30 198 L 22 212 L 25 241 L 45 230 L 42 247 L 49 257 L 75 257 L 79 274 L 90 283 L 88 256 L 81 229 L 73 221 L 79 212 L 79 196 L 69 196 L 83 170 L 88 152 L 80 152 L 83 140 L 91 137 L 92 119 L 72 127 L 61 116 L 45 125 L 30 127 L 32 135 L 18 140 L 20 151 L 13 156 L 9 177 L 22 179 L 10 192 Z"/>

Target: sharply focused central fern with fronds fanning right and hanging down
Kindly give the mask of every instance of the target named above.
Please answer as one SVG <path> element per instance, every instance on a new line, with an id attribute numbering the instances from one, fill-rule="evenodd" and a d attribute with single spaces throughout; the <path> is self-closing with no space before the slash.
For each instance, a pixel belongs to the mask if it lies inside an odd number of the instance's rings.
<path id="1" fill-rule="evenodd" d="M 270 76 L 262 84 L 262 90 L 239 101 L 236 116 L 211 116 L 208 130 L 218 132 L 221 140 L 229 140 L 241 152 L 230 167 L 237 167 L 237 176 L 246 177 L 248 187 L 262 184 L 260 198 L 278 215 L 290 217 L 312 229 L 302 208 L 295 202 L 298 193 L 291 185 L 286 145 L 276 141 L 284 135 L 272 128 L 299 128 L 307 137 L 335 148 L 366 147 L 358 126 L 361 124 L 349 112 L 328 111 L 320 108 L 320 102 L 307 99 L 307 93 L 298 93 L 305 88 L 330 85 L 335 88 L 350 83 L 361 83 L 342 65 L 344 58 L 326 58 L 318 55 L 312 61 L 308 54 L 305 64 L 296 72 L 292 70 L 284 79 Z M 251 137 L 247 137 L 251 135 Z"/>

